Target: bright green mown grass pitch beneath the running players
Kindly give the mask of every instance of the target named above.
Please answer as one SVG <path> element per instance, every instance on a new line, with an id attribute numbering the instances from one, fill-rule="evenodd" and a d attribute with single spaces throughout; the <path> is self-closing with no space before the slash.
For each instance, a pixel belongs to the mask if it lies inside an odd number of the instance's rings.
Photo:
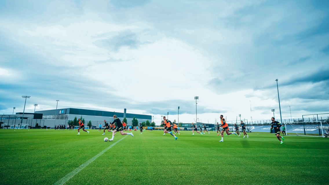
<path id="1" fill-rule="evenodd" d="M 329 139 L 134 131 L 65 184 L 328 184 Z M 54 184 L 114 142 L 97 130 L 1 129 L 0 184 Z M 178 134 L 177 134 L 178 135 Z M 224 134 L 225 135 L 225 134 Z M 112 133 L 106 132 L 111 138 Z"/>

